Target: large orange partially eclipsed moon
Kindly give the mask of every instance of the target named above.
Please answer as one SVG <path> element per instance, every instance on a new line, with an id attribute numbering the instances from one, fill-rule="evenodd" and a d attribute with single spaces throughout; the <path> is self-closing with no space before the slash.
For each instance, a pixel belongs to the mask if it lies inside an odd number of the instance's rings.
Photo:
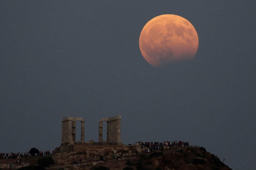
<path id="1" fill-rule="evenodd" d="M 160 68 L 192 60 L 198 49 L 198 35 L 187 19 L 172 14 L 159 15 L 142 29 L 139 49 L 149 64 Z"/>

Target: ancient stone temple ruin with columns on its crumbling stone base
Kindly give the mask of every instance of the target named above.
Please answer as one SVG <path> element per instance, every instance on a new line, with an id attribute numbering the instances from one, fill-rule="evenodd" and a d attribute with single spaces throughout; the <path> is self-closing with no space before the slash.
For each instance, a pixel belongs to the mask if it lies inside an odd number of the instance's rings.
<path id="1" fill-rule="evenodd" d="M 81 122 L 81 140 L 75 139 L 75 123 Z M 103 141 L 103 121 L 107 122 L 107 141 Z M 102 118 L 99 121 L 99 141 L 84 139 L 85 129 L 82 117 L 63 117 L 61 146 L 55 148 L 53 159 L 56 164 L 70 165 L 77 159 L 98 160 L 99 156 L 112 158 L 117 156 L 131 156 L 141 153 L 141 146 L 124 145 L 121 143 L 121 116 Z"/>

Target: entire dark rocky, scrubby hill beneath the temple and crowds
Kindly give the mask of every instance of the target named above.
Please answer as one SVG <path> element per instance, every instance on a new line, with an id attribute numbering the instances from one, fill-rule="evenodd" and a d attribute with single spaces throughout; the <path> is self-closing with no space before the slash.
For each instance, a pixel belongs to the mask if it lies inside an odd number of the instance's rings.
<path id="1" fill-rule="evenodd" d="M 136 146 L 130 146 L 131 150 L 136 152 Z M 74 154 L 74 156 L 77 154 Z M 51 154 L 52 157 L 55 154 Z M 30 157 L 22 159 L 26 165 L 37 165 L 40 157 Z M 0 160 L 0 169 L 12 169 L 10 162 L 15 163 L 15 159 Z M 21 167 L 21 166 L 20 166 Z M 15 166 L 19 168 L 19 166 Z M 23 168 L 25 168 L 23 166 Z M 26 168 L 25 168 L 26 169 Z M 30 170 L 35 169 L 29 167 Z M 125 156 L 125 160 L 121 158 L 108 158 L 107 161 L 99 161 L 98 156 L 94 159 L 83 160 L 79 164 L 55 164 L 50 165 L 47 169 L 66 169 L 66 170 L 230 170 L 220 159 L 203 147 L 170 147 L 163 151 L 151 153 L 135 153 L 135 155 Z M 23 169 L 24 170 L 24 169 Z"/>

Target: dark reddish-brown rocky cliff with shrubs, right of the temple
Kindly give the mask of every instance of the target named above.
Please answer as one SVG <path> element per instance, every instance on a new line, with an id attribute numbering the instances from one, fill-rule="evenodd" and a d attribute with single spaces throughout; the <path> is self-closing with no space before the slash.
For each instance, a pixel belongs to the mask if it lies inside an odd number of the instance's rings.
<path id="1" fill-rule="evenodd" d="M 138 170 L 230 170 L 217 156 L 206 152 L 203 147 L 164 149 L 163 152 L 141 155 L 137 162 L 131 161 L 129 164 L 130 168 Z"/>

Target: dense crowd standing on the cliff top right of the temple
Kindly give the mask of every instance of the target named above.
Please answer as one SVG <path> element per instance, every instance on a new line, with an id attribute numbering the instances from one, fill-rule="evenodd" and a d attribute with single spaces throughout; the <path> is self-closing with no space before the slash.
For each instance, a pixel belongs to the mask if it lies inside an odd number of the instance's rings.
<path id="1" fill-rule="evenodd" d="M 139 141 L 139 142 L 136 142 L 138 143 L 138 145 L 140 145 L 141 147 L 147 147 L 149 148 L 147 150 L 147 152 L 149 151 L 162 151 L 164 146 L 168 146 L 168 147 L 188 147 L 189 146 L 189 142 L 182 142 L 181 140 L 179 142 L 177 142 L 176 140 L 175 141 L 164 141 L 163 143 L 159 143 L 159 142 L 142 142 L 142 141 Z M 146 150 L 145 150 L 146 152 Z"/>

